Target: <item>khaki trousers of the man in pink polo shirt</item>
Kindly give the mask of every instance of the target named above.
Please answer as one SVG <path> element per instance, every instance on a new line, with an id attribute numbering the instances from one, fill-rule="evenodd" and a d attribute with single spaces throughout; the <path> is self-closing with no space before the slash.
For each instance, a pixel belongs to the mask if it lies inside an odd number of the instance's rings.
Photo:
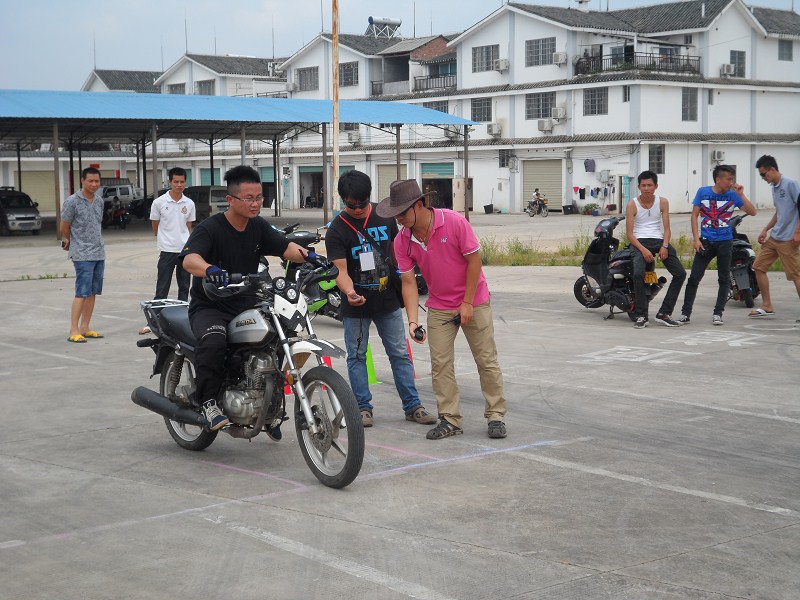
<path id="1" fill-rule="evenodd" d="M 458 311 L 428 309 L 428 347 L 431 353 L 431 375 L 433 393 L 439 417 L 461 427 L 460 398 L 455 373 L 455 340 L 459 329 L 467 338 L 478 374 L 481 391 L 486 401 L 484 416 L 487 421 L 503 421 L 506 414 L 506 399 L 503 395 L 503 373 L 497 361 L 497 346 L 494 343 L 492 307 L 489 302 L 476 306 L 473 320 L 466 326 L 457 327 L 445 323 Z"/>

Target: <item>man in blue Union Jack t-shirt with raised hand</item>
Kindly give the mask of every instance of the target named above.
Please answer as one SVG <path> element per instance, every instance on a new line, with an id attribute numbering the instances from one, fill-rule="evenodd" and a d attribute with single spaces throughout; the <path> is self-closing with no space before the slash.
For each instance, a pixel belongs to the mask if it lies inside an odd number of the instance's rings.
<path id="1" fill-rule="evenodd" d="M 744 195 L 744 186 L 736 181 L 736 170 L 730 165 L 717 165 L 711 174 L 714 185 L 701 187 L 692 202 L 692 236 L 694 237 L 694 261 L 679 323 L 689 324 L 697 287 L 705 275 L 712 259 L 717 259 L 717 303 L 711 316 L 713 325 L 722 325 L 722 312 L 728 300 L 731 281 L 731 253 L 733 251 L 733 230 L 730 220 L 733 211 L 741 208 L 748 215 L 756 214 L 756 207 Z M 699 221 L 699 226 L 698 226 Z"/>

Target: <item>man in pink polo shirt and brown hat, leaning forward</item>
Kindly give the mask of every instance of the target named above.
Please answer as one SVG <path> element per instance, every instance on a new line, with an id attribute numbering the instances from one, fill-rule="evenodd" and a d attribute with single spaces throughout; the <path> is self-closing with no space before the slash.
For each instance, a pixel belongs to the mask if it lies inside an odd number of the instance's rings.
<path id="1" fill-rule="evenodd" d="M 439 423 L 426 437 L 439 440 L 463 432 L 454 366 L 459 326 L 478 367 L 489 437 L 506 437 L 506 400 L 494 342 L 489 287 L 483 276 L 480 244 L 472 227 L 457 212 L 426 207 L 422 190 L 413 179 L 392 183 L 389 197 L 376 210 L 382 217 L 394 217 L 403 227 L 394 239 L 394 252 L 403 274 L 408 327 L 417 343 L 427 339 L 430 347 Z M 414 265 L 419 266 L 428 283 L 427 332 L 418 323 Z"/>

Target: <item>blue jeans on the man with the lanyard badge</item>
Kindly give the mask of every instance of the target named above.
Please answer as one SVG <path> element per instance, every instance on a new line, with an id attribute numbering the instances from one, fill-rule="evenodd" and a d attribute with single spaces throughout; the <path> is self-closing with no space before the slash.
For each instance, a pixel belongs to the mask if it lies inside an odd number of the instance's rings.
<path id="1" fill-rule="evenodd" d="M 419 394 L 414 385 L 414 365 L 406 348 L 406 326 L 403 313 L 398 308 L 381 316 L 345 317 L 344 345 L 347 349 L 347 375 L 350 387 L 358 400 L 360 410 L 372 412 L 372 393 L 369 391 L 367 376 L 367 343 L 369 326 L 375 323 L 383 348 L 389 357 L 392 376 L 397 393 L 403 401 L 403 412 L 409 414 L 420 405 Z"/>

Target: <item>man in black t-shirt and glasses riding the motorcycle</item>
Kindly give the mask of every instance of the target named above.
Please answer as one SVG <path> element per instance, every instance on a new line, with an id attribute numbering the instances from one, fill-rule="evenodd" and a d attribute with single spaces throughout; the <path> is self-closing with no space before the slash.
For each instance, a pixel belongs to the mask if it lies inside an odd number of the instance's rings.
<path id="1" fill-rule="evenodd" d="M 189 302 L 189 322 L 198 340 L 195 349 L 195 397 L 211 430 L 228 424 L 217 406 L 224 377 L 227 325 L 240 312 L 255 306 L 256 298 L 240 294 L 211 300 L 203 281 L 218 287 L 228 284 L 229 273 L 256 273 L 261 256 L 282 256 L 303 262 L 307 251 L 259 217 L 264 196 L 261 178 L 252 167 L 239 166 L 225 173 L 228 210 L 200 222 L 181 252 L 183 268 L 194 275 Z"/>

